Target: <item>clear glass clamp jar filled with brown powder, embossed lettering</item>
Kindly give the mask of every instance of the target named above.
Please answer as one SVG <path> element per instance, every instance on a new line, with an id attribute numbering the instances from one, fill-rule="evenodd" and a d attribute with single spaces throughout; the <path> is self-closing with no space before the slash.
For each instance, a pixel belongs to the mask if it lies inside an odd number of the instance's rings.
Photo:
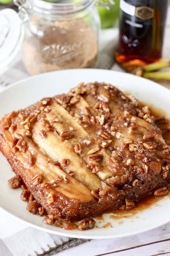
<path id="1" fill-rule="evenodd" d="M 14 0 L 19 7 L 22 56 L 31 75 L 95 67 L 100 18 L 93 0 Z"/>

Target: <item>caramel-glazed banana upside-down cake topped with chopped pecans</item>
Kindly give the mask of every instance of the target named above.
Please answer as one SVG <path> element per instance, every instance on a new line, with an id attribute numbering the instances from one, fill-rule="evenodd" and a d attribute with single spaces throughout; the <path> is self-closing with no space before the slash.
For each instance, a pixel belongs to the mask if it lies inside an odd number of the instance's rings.
<path id="1" fill-rule="evenodd" d="M 79 229 L 92 228 L 90 216 L 168 193 L 170 146 L 156 121 L 111 84 L 43 98 L 0 121 L 0 149 L 16 174 L 8 183 L 22 185 L 27 209 L 48 224 L 87 218 Z"/>

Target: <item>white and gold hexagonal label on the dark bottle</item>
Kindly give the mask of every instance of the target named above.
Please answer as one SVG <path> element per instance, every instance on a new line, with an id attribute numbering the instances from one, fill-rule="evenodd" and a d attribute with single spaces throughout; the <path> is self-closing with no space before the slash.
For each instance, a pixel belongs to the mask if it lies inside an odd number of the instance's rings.
<path id="1" fill-rule="evenodd" d="M 148 20 L 154 17 L 154 9 L 148 6 L 135 7 L 120 0 L 120 9 L 131 16 L 136 16 L 141 20 Z"/>

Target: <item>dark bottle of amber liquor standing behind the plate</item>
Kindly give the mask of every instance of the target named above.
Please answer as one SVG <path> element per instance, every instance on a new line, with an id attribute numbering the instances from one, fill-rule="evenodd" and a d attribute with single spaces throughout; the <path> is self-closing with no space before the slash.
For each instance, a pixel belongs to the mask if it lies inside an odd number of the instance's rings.
<path id="1" fill-rule="evenodd" d="M 115 58 L 122 68 L 131 72 L 161 59 L 168 0 L 125 2 L 136 7 L 135 15 L 121 11 Z"/>

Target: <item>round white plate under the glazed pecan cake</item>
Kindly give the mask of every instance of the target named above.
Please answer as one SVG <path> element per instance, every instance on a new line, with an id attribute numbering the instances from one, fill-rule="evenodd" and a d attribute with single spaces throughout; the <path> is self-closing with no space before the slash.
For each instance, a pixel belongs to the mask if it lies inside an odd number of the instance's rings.
<path id="1" fill-rule="evenodd" d="M 102 69 L 56 71 L 19 81 L 0 93 L 0 117 L 12 110 L 24 108 L 42 97 L 67 92 L 71 87 L 82 81 L 94 82 L 96 80 L 111 83 L 124 92 L 130 92 L 139 100 L 161 108 L 170 117 L 170 90 L 134 75 Z M 116 221 L 109 218 L 109 214 L 104 215 L 105 221 L 102 223 L 96 220 L 97 226 L 103 226 L 107 222 L 111 222 L 112 228 L 94 228 L 92 230 L 78 231 L 62 230 L 61 228 L 46 225 L 42 222 L 43 217 L 33 215 L 26 210 L 26 202 L 20 199 L 21 189 L 12 190 L 8 187 L 7 180 L 13 176 L 13 173 L 6 158 L 1 153 L 0 163 L 0 207 L 35 228 L 75 238 L 103 239 L 145 232 L 170 221 L 170 198 L 164 197 L 159 203 L 143 210 L 136 216 L 123 218 L 121 225 L 118 223 L 120 220 Z"/>

